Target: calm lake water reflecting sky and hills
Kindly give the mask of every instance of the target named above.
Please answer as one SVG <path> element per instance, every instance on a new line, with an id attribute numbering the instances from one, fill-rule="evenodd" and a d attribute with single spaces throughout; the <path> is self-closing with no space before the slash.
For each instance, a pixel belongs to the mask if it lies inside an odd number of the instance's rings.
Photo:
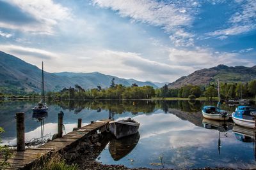
<path id="1" fill-rule="evenodd" d="M 33 118 L 31 108 L 36 101 L 0 101 L 0 127 L 4 144 L 15 144 L 15 113 L 26 113 L 26 141 L 44 136 L 51 138 L 57 131 L 58 113 L 64 112 L 65 131 L 91 120 L 109 117 L 131 117 L 140 122 L 139 133 L 123 141 L 112 139 L 100 153 L 102 164 L 122 164 L 127 167 L 192 169 L 198 167 L 256 168 L 253 131 L 205 120 L 201 109 L 216 105 L 204 101 L 61 101 L 48 102 L 49 113 L 44 120 Z M 255 106 L 255 104 L 252 104 Z M 234 111 L 236 106 L 222 106 Z M 126 148 L 118 153 L 118 146 Z M 110 151 L 110 152 L 109 152 Z"/>

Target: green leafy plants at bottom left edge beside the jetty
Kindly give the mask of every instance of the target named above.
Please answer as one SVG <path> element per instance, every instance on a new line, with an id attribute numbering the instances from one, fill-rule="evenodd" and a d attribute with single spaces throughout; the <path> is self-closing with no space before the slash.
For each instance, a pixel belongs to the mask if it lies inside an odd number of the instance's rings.
<path id="1" fill-rule="evenodd" d="M 1 134 L 4 132 L 4 129 L 0 127 L 0 143 L 1 143 Z M 9 166 L 6 162 L 12 156 L 12 150 L 8 146 L 0 145 L 0 169 L 4 169 Z"/>

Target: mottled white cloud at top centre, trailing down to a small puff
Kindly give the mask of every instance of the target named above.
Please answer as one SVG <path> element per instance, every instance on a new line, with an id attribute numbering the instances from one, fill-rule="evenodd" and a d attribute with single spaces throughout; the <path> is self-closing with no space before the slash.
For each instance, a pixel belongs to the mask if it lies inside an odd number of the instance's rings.
<path id="1" fill-rule="evenodd" d="M 180 27 L 191 25 L 198 3 L 194 1 L 172 1 L 169 3 L 148 0 L 93 0 L 101 8 L 117 11 L 122 17 L 130 17 L 132 21 L 143 22 L 162 27 L 171 34 L 170 39 L 175 46 L 193 46 L 194 35 Z"/>

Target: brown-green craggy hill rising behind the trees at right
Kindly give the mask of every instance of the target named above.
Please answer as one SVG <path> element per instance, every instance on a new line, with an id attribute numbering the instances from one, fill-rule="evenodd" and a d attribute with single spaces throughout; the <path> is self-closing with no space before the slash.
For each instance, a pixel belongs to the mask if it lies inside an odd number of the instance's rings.
<path id="1" fill-rule="evenodd" d="M 184 85 L 209 85 L 220 78 L 221 82 L 234 83 L 234 82 L 246 82 L 256 79 L 256 66 L 244 67 L 235 66 L 228 67 L 225 65 L 218 65 L 209 69 L 200 69 L 188 76 L 182 76 L 178 80 L 169 83 L 170 89 L 182 87 Z"/>

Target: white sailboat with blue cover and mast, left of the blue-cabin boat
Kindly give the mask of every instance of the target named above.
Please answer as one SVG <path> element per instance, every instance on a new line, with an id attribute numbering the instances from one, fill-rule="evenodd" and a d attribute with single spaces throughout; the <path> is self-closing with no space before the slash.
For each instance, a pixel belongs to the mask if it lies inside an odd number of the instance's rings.
<path id="1" fill-rule="evenodd" d="M 204 118 L 209 118 L 212 120 L 228 120 L 230 115 L 224 110 L 220 110 L 220 81 L 218 78 L 218 104 L 216 106 L 204 106 L 202 109 L 202 114 Z"/>

